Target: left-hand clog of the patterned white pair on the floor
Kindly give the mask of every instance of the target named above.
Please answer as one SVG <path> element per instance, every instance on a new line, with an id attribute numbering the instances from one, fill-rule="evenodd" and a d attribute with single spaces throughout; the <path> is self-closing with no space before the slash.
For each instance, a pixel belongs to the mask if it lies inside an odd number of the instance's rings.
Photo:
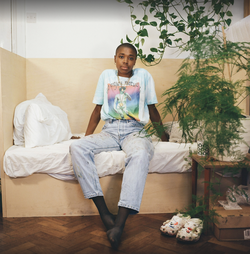
<path id="1" fill-rule="evenodd" d="M 175 236 L 178 230 L 180 230 L 190 218 L 189 215 L 184 216 L 183 214 L 178 213 L 177 215 L 174 215 L 171 220 L 163 222 L 160 230 L 164 235 Z"/>

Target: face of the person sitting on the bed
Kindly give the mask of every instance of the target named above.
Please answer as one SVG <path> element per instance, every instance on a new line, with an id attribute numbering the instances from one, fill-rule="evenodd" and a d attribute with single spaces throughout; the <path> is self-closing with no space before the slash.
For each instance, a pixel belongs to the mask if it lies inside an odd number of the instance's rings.
<path id="1" fill-rule="evenodd" d="M 114 57 L 118 75 L 131 77 L 136 62 L 136 54 L 131 48 L 120 47 Z"/>

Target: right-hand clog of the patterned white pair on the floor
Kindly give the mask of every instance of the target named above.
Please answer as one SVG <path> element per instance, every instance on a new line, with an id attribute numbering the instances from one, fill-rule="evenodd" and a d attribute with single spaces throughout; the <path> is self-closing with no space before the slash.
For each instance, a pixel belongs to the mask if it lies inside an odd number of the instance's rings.
<path id="1" fill-rule="evenodd" d="M 189 219 L 176 235 L 177 240 L 184 242 L 197 242 L 200 239 L 203 222 L 198 218 Z"/>

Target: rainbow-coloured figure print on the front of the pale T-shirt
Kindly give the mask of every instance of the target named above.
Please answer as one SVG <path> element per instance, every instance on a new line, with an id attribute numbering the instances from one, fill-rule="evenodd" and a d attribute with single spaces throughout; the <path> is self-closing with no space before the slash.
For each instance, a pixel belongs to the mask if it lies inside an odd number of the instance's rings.
<path id="1" fill-rule="evenodd" d="M 109 115 L 115 119 L 139 119 L 139 83 L 108 84 Z"/>

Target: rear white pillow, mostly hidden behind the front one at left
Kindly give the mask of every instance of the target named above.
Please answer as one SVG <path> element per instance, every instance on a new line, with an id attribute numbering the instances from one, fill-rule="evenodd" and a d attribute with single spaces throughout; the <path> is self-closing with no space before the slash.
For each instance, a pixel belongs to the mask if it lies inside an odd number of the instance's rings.
<path id="1" fill-rule="evenodd" d="M 31 103 L 36 103 L 39 105 L 40 104 L 52 105 L 42 93 L 39 93 L 35 99 L 27 100 L 17 105 L 14 114 L 14 131 L 13 131 L 14 144 L 17 146 L 24 145 L 25 113 L 27 107 Z"/>

